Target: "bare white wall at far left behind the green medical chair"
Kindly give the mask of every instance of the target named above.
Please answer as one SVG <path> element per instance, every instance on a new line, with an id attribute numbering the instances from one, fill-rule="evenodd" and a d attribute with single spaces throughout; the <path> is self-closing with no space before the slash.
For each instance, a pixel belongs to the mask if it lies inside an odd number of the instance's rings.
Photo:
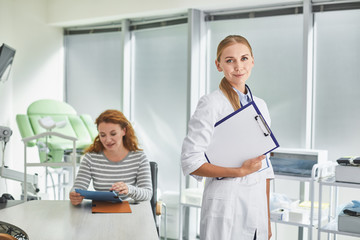
<path id="1" fill-rule="evenodd" d="M 46 0 L 0 0 L 0 44 L 16 49 L 10 79 L 0 83 L 0 126 L 13 130 L 5 162 L 23 171 L 23 144 L 16 114 L 42 98 L 63 100 L 62 29 L 47 24 Z M 0 156 L 2 153 L 0 152 Z M 20 183 L 0 180 L 0 194 L 20 197 Z"/>

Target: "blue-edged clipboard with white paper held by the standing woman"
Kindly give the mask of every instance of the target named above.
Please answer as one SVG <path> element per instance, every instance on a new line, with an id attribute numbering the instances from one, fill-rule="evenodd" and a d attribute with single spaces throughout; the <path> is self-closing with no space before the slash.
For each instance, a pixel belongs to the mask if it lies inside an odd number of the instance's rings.
<path id="1" fill-rule="evenodd" d="M 222 167 L 241 167 L 244 161 L 266 155 L 279 147 L 274 134 L 254 101 L 215 123 L 205 152 L 207 161 Z M 263 171 L 269 160 L 262 161 Z"/>

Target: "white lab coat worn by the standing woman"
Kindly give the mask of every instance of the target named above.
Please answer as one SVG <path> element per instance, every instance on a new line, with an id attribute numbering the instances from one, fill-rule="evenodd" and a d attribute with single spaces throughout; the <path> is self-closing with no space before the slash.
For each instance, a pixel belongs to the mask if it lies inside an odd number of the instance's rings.
<path id="1" fill-rule="evenodd" d="M 253 100 L 270 125 L 266 103 L 255 96 Z M 214 125 L 233 111 L 220 90 L 199 100 L 182 146 L 181 165 L 185 175 L 207 163 L 204 152 L 210 144 Z M 253 240 L 255 231 L 257 240 L 268 239 L 266 179 L 274 178 L 270 161 L 269 164 L 266 170 L 241 178 L 206 179 L 201 208 L 201 240 Z M 192 176 L 202 180 L 202 177 Z"/>

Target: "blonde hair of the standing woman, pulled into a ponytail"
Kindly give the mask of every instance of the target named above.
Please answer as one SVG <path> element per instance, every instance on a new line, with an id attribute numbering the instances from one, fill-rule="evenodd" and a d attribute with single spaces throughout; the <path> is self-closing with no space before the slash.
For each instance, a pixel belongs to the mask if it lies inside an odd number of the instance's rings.
<path id="1" fill-rule="evenodd" d="M 235 43 L 241 43 L 247 46 L 250 50 L 251 57 L 253 57 L 252 48 L 246 38 L 240 35 L 229 35 L 219 43 L 217 47 L 216 60 L 220 62 L 220 57 L 224 49 Z M 234 91 L 233 87 L 231 86 L 229 81 L 226 80 L 225 77 L 221 79 L 219 88 L 227 97 L 227 99 L 229 99 L 231 106 L 234 108 L 234 111 L 241 108 L 239 95 Z"/>

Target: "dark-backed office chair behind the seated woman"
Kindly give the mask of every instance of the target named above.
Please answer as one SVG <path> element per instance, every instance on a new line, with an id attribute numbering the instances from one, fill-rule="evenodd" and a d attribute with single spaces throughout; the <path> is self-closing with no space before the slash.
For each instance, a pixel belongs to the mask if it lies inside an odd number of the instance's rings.
<path id="1" fill-rule="evenodd" d="M 164 228 L 165 228 L 165 238 L 166 237 L 166 204 L 157 200 L 157 176 L 158 176 L 158 164 L 156 162 L 150 162 L 150 171 L 151 171 L 151 183 L 153 188 L 153 196 L 150 200 L 151 209 L 154 215 L 154 221 L 156 225 L 156 230 L 160 236 L 160 221 L 158 221 L 157 216 L 161 216 L 164 211 Z"/>

